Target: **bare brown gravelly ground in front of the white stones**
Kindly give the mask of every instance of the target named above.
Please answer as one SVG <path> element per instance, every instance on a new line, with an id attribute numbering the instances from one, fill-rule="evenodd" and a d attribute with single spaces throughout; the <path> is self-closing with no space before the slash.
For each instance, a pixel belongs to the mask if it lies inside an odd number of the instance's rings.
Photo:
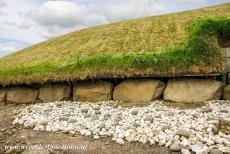
<path id="1" fill-rule="evenodd" d="M 63 148 L 75 146 L 75 150 L 56 150 L 53 153 L 86 153 L 86 154 L 168 154 L 166 148 L 159 146 L 143 145 L 139 143 L 126 143 L 119 145 L 110 138 L 94 140 L 91 137 L 81 135 L 71 136 L 64 133 L 38 132 L 24 129 L 20 126 L 13 126 L 14 110 L 18 110 L 24 105 L 1 105 L 0 107 L 0 153 L 9 152 L 6 146 L 56 146 Z M 68 148 L 68 147 L 66 147 Z M 11 153 L 21 153 L 23 150 L 14 150 Z"/>

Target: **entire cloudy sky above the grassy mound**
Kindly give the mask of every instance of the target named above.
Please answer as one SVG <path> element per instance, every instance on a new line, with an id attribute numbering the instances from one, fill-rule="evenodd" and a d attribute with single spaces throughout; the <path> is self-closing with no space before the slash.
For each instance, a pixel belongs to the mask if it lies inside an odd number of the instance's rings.
<path id="1" fill-rule="evenodd" d="M 230 0 L 0 0 L 0 57 L 77 29 Z"/>

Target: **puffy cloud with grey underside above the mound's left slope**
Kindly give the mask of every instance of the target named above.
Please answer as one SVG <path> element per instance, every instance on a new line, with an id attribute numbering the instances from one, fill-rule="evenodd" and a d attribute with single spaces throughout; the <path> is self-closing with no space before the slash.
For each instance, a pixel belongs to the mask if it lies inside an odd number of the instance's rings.
<path id="1" fill-rule="evenodd" d="M 57 36 L 74 29 L 106 23 L 104 16 L 90 13 L 84 4 L 69 1 L 47 1 L 26 14 L 45 38 Z"/>

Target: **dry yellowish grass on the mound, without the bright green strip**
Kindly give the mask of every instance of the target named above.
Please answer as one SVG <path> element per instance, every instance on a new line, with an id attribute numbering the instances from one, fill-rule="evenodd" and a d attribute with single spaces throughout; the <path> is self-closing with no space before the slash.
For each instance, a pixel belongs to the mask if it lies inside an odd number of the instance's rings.
<path id="1" fill-rule="evenodd" d="M 102 65 L 102 68 L 99 69 L 87 68 L 87 65 L 83 67 L 84 69 L 65 70 L 64 72 L 60 71 L 59 68 L 67 68 L 77 60 L 91 57 L 92 55 L 114 56 L 123 53 L 156 53 L 160 55 L 168 51 L 169 47 L 177 48 L 184 44 L 188 37 L 188 25 L 192 21 L 200 18 L 212 19 L 217 17 L 230 18 L 230 3 L 174 14 L 122 21 L 72 32 L 1 58 L 0 73 L 6 75 L 0 74 L 0 81 L 1 84 L 4 84 L 7 82 L 23 83 L 29 79 L 28 82 L 42 82 L 43 80 L 52 80 L 52 78 L 72 80 L 86 78 L 84 76 L 89 78 L 105 75 L 113 77 L 116 74 L 118 76 L 129 76 L 128 74 L 135 76 L 138 73 L 134 72 L 138 69 L 135 67 L 129 68 L 128 65 L 124 69 L 121 67 L 117 69 L 111 64 L 109 65 L 111 68 L 105 68 Z M 220 59 L 217 58 L 217 60 L 219 61 Z M 49 68 L 44 69 L 42 67 L 44 71 L 41 71 L 37 66 L 43 66 L 43 64 L 44 66 L 50 64 L 52 66 L 50 67 L 51 70 L 46 71 Z M 199 61 L 198 64 L 202 64 L 202 62 Z M 206 67 L 206 64 L 200 66 Z M 204 71 L 200 68 L 201 71 L 196 73 L 208 74 L 222 71 L 222 62 L 214 65 L 210 64 L 210 66 L 213 67 L 211 71 Z M 28 68 L 33 71 L 30 73 Z M 149 69 L 151 71 L 148 73 Z M 189 74 L 194 71 L 194 69 L 187 69 L 188 67 L 177 71 L 181 74 Z M 23 74 L 25 70 L 27 73 Z M 38 73 L 39 71 L 41 72 Z M 115 71 L 116 73 L 114 73 Z M 170 70 L 159 73 L 156 68 L 148 66 L 141 69 L 140 72 L 142 73 L 140 75 L 178 74 L 178 72 L 174 71 L 173 68 L 170 68 Z M 101 74 L 103 72 L 106 73 Z"/>

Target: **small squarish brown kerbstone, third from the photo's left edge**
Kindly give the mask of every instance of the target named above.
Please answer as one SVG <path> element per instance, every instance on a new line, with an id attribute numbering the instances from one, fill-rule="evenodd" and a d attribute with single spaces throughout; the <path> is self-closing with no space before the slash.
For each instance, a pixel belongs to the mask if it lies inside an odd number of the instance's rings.
<path id="1" fill-rule="evenodd" d="M 62 100 L 69 100 L 71 96 L 71 86 L 47 85 L 40 88 L 39 99 L 43 102 L 55 102 Z"/>

